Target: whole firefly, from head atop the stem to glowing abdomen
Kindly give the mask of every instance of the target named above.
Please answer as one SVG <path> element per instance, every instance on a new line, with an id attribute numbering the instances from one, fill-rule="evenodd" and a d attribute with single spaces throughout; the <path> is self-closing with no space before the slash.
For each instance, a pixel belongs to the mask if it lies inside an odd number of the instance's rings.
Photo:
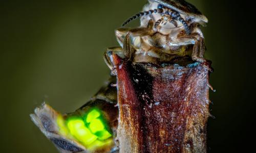
<path id="1" fill-rule="evenodd" d="M 122 69 L 122 65 L 113 64 L 113 55 L 134 65 L 191 64 L 184 67 L 186 71 L 200 63 L 206 63 L 203 58 L 204 36 L 200 25 L 205 25 L 207 18 L 195 6 L 183 0 L 148 2 L 142 12 L 123 24 L 140 17 L 140 27 L 117 29 L 115 35 L 120 46 L 110 47 L 104 53 L 104 60 L 112 70 L 112 75 L 117 75 L 116 69 Z M 172 68 L 177 69 L 176 66 Z M 161 68 L 168 69 L 164 66 Z M 153 71 L 155 70 L 157 71 Z M 180 70 L 183 71 L 183 68 Z M 117 76 L 117 79 L 120 78 Z M 135 79 L 135 83 L 138 81 L 139 79 Z M 207 80 L 205 82 L 207 84 Z M 60 152 L 118 152 L 116 135 L 119 103 L 116 86 L 116 79 L 112 77 L 89 103 L 74 113 L 62 115 L 44 104 L 35 109 L 31 118 Z M 159 102 L 155 104 L 159 105 Z M 207 115 L 206 111 L 206 118 Z"/>

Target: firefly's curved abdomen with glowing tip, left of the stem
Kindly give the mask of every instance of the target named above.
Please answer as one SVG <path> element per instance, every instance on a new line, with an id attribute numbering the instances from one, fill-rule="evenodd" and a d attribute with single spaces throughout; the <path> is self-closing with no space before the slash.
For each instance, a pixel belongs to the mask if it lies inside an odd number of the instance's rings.
<path id="1" fill-rule="evenodd" d="M 116 152 L 117 91 L 114 77 L 88 103 L 73 113 L 60 114 L 47 104 L 36 108 L 32 121 L 61 153 Z"/>

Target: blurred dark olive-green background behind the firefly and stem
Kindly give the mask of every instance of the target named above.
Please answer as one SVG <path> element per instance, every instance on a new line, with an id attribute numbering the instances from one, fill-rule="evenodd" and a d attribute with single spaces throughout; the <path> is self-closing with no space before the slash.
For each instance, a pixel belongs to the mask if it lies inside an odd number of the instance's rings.
<path id="1" fill-rule="evenodd" d="M 213 62 L 210 83 L 217 92 L 210 93 L 216 118 L 208 123 L 208 152 L 248 149 L 255 106 L 252 13 L 246 3 L 188 2 L 209 19 L 205 56 Z M 118 45 L 114 30 L 145 3 L 1 1 L 0 152 L 57 152 L 29 114 L 43 101 L 65 113 L 89 100 L 108 79 L 102 55 Z"/>

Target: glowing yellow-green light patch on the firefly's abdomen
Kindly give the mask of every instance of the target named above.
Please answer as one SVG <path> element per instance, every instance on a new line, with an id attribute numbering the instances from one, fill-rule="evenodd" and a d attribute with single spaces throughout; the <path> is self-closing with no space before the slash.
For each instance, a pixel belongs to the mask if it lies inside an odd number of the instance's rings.
<path id="1" fill-rule="evenodd" d="M 113 142 L 112 139 L 109 139 L 112 137 L 108 131 L 109 126 L 98 109 L 89 110 L 89 113 L 83 117 L 69 117 L 66 125 L 63 118 L 58 117 L 57 124 L 61 134 L 72 135 L 87 149 L 95 149 Z"/>

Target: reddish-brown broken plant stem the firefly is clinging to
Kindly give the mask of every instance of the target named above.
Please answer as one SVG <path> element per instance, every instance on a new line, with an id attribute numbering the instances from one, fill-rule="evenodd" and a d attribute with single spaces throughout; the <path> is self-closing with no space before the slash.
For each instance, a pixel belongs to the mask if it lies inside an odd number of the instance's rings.
<path id="1" fill-rule="evenodd" d="M 120 152 L 206 152 L 209 64 L 153 66 L 110 56 Z"/>

